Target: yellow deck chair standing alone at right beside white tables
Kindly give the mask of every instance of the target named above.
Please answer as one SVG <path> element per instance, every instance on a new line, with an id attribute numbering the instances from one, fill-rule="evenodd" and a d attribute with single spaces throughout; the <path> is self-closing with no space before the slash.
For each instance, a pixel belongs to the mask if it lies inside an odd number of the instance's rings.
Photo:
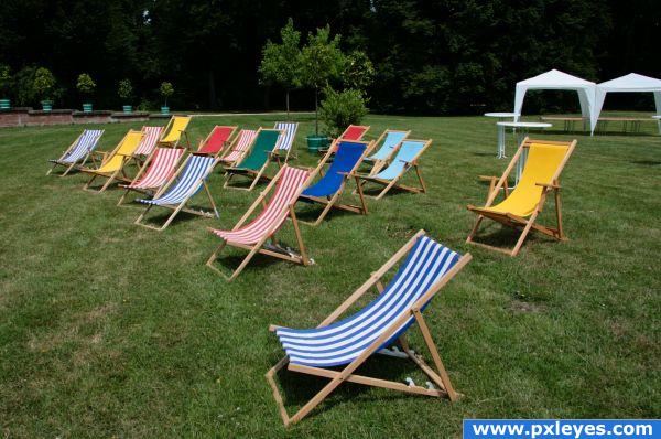
<path id="1" fill-rule="evenodd" d="M 512 161 L 505 170 L 502 176 L 500 179 L 495 176 L 491 178 L 489 194 L 485 206 L 476 207 L 474 205 L 468 205 L 468 210 L 477 214 L 477 220 L 475 221 L 475 226 L 473 227 L 473 231 L 470 231 L 468 238 L 466 238 L 466 243 L 502 251 L 510 256 L 517 256 L 531 228 L 557 240 L 566 240 L 566 236 L 562 228 L 560 174 L 575 147 L 576 140 L 571 142 L 557 142 L 532 140 L 528 137 L 523 139 L 519 150 L 514 157 L 512 157 Z M 507 179 L 518 160 L 524 156 L 525 150 L 528 151 L 528 160 L 525 161 L 525 167 L 521 173 L 521 179 L 514 190 L 509 193 Z M 498 180 L 497 183 L 495 183 L 496 180 Z M 501 190 L 503 190 L 506 197 L 499 204 L 494 205 L 494 202 Z M 555 197 L 555 220 L 557 223 L 555 228 L 537 224 L 537 217 L 540 212 L 542 212 L 546 197 L 551 191 L 553 191 Z M 505 226 L 522 229 L 512 250 L 473 240 L 485 217 L 494 220 Z"/>

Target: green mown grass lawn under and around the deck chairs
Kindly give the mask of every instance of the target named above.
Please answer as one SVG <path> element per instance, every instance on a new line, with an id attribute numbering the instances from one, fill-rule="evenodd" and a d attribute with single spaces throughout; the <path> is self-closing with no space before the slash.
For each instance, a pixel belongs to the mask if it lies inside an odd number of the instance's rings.
<path id="1" fill-rule="evenodd" d="M 279 116 L 199 117 L 256 128 Z M 299 160 L 312 116 L 297 115 Z M 166 231 L 133 225 L 120 192 L 82 191 L 84 175 L 46 176 L 83 127 L 0 130 L 0 435 L 3 437 L 459 437 L 464 418 L 653 418 L 661 413 L 661 138 L 546 132 L 578 146 L 562 178 L 571 240 L 532 235 L 517 258 L 466 245 L 496 175 L 487 118 L 369 116 L 432 138 L 422 160 L 429 194 L 369 201 L 368 216 L 330 214 L 303 226 L 316 264 L 258 257 L 232 283 L 204 266 L 259 194 L 210 188 L 219 220 L 180 215 Z M 86 127 L 88 128 L 88 127 Z M 95 127 L 97 128 L 97 127 Z M 106 125 L 101 150 L 129 128 Z M 508 153 L 513 153 L 508 137 Z M 271 168 L 270 174 L 274 172 Z M 258 186 L 259 188 L 259 186 Z M 261 186 L 263 188 L 263 185 Z M 195 199 L 203 205 L 203 196 Z M 542 221 L 553 217 L 546 205 Z M 300 211 L 304 211 L 304 206 Z M 155 220 L 164 218 L 161 211 Z M 302 216 L 305 217 L 303 214 Z M 317 324 L 418 229 L 474 260 L 425 312 L 457 404 L 343 385 L 285 430 L 263 374 L 281 356 L 270 323 Z M 490 242 L 513 244 L 494 226 Z M 291 225 L 283 238 L 294 244 Z M 229 251 L 220 266 L 238 264 Z M 412 331 L 411 343 L 423 351 Z M 429 357 L 429 356 L 427 356 Z M 379 356 L 366 373 L 424 383 L 412 363 Z M 284 373 L 290 411 L 325 383 Z"/>

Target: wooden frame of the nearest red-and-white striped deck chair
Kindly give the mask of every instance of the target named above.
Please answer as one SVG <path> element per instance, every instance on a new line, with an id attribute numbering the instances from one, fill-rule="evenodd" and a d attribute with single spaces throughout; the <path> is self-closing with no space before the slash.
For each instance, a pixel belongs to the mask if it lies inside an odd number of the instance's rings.
<path id="1" fill-rule="evenodd" d="M 239 220 L 237 225 L 234 226 L 232 231 L 236 231 L 239 227 L 241 227 L 243 225 L 243 223 L 246 223 L 246 221 L 248 221 L 250 215 L 254 212 L 254 210 L 259 205 L 261 205 L 262 207 L 266 207 L 266 205 L 267 205 L 266 197 L 269 194 L 269 192 L 278 183 L 280 175 L 282 174 L 282 171 L 283 171 L 283 168 L 281 168 L 278 171 L 278 174 L 275 174 L 275 176 L 273 178 L 273 180 L 271 180 L 269 185 L 259 194 L 257 200 L 254 200 L 252 205 L 248 208 L 248 211 L 243 214 L 243 216 L 241 216 L 241 218 Z M 209 256 L 209 258 L 207 259 L 206 266 L 209 267 L 210 269 L 213 269 L 214 271 L 216 271 L 217 274 L 219 274 L 220 276 L 223 276 L 227 281 L 232 281 L 234 279 L 237 278 L 237 276 L 239 276 L 241 274 L 241 271 L 243 271 L 243 268 L 246 268 L 248 263 L 258 253 L 260 253 L 262 255 L 273 256 L 279 259 L 289 260 L 290 263 L 294 263 L 294 264 L 302 264 L 304 266 L 312 265 L 313 264 L 312 260 L 307 257 L 307 250 L 305 249 L 305 244 L 303 243 L 303 237 L 301 235 L 301 228 L 299 227 L 299 221 L 296 218 L 296 213 L 294 211 L 294 204 L 296 203 L 299 195 L 301 194 L 301 192 L 303 191 L 303 189 L 307 185 L 307 183 L 310 181 L 311 180 L 308 176 L 306 182 L 301 185 L 297 193 L 292 197 L 293 201 L 290 202 L 290 204 L 288 206 L 288 211 L 289 211 L 288 217 L 289 217 L 289 220 L 291 220 L 292 226 L 294 228 L 294 234 L 296 235 L 299 250 L 301 251 L 300 255 L 284 255 L 284 254 L 278 253 L 278 251 L 272 251 L 272 250 L 262 248 L 264 243 L 267 242 L 267 239 L 273 239 L 275 237 L 275 233 L 282 226 L 282 224 L 273 224 L 270 227 L 270 229 L 263 234 L 263 236 L 259 239 L 259 242 L 252 246 L 245 245 L 245 244 L 238 244 L 238 243 L 231 243 L 226 239 L 223 239 L 223 243 L 220 243 L 220 245 L 216 248 L 216 250 L 214 250 L 214 253 L 212 253 L 212 256 Z M 212 227 L 207 227 L 207 229 L 209 232 L 213 232 Z M 217 267 L 214 266 L 214 261 L 218 258 L 218 255 L 220 255 L 223 249 L 228 245 L 230 247 L 237 247 L 237 248 L 242 248 L 245 250 L 248 250 L 248 255 L 243 258 L 243 260 L 239 264 L 239 266 L 232 271 L 232 274 L 230 276 L 225 275 L 220 269 L 218 269 Z"/>

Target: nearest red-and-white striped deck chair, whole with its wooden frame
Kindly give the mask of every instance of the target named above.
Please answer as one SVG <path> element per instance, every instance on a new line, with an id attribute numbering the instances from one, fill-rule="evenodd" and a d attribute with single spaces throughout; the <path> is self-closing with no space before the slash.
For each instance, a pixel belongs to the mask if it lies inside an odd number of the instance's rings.
<path id="1" fill-rule="evenodd" d="M 223 239 L 223 242 L 207 260 L 207 267 L 224 276 L 228 281 L 231 281 L 241 274 L 250 259 L 258 253 L 295 264 L 312 264 L 312 260 L 308 259 L 305 251 L 301 231 L 296 221 L 296 214 L 294 212 L 294 203 L 308 176 L 308 170 L 292 168 L 284 164 L 269 183 L 268 188 L 260 194 L 254 203 L 252 203 L 250 208 L 248 208 L 248 212 L 246 212 L 231 231 L 219 231 L 209 227 L 208 231 Z M 267 203 L 266 197 L 271 190 L 273 191 L 273 195 L 271 195 L 271 199 Z M 261 213 L 251 222 L 243 224 L 260 204 L 263 205 Z M 295 254 L 290 248 L 283 248 L 275 242 L 275 233 L 282 227 L 288 217 L 292 220 L 299 250 L 301 251 L 300 255 Z M 267 240 L 269 240 L 269 243 L 267 243 Z M 214 266 L 214 261 L 226 246 L 248 250 L 248 256 L 246 256 L 229 277 Z"/>

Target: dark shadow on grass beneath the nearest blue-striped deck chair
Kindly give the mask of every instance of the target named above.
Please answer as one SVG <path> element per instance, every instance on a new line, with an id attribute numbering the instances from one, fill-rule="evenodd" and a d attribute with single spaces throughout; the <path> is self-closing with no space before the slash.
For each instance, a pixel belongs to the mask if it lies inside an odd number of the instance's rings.
<path id="1" fill-rule="evenodd" d="M 275 364 L 278 360 L 278 357 L 273 356 L 270 364 Z M 345 366 L 328 368 L 340 372 L 344 367 Z M 429 379 L 426 377 L 421 378 L 422 375 L 420 374 L 420 370 L 410 358 L 393 358 L 380 354 L 375 354 L 369 357 L 365 364 L 356 370 L 356 374 L 401 383 L 405 383 L 405 378 L 412 376 L 418 385 L 424 385 L 424 382 Z M 288 371 L 286 367 L 280 370 L 275 378 L 277 385 L 280 387 L 284 405 L 290 416 L 292 416 L 305 403 L 314 397 L 330 381 L 329 378 Z M 315 416 L 322 411 L 332 410 L 336 406 L 342 406 L 344 403 L 356 400 L 356 398 L 360 397 L 361 395 L 373 392 L 375 389 L 376 387 L 345 382 L 338 386 L 326 399 L 324 399 L 319 406 L 311 411 L 308 417 Z M 379 390 L 387 392 L 387 395 L 379 394 L 378 396 L 373 396 L 373 398 L 367 399 L 369 404 L 379 404 L 383 403 L 384 400 L 398 400 L 416 397 L 416 395 L 404 394 L 397 390 Z M 420 397 L 432 399 L 426 396 Z"/>

